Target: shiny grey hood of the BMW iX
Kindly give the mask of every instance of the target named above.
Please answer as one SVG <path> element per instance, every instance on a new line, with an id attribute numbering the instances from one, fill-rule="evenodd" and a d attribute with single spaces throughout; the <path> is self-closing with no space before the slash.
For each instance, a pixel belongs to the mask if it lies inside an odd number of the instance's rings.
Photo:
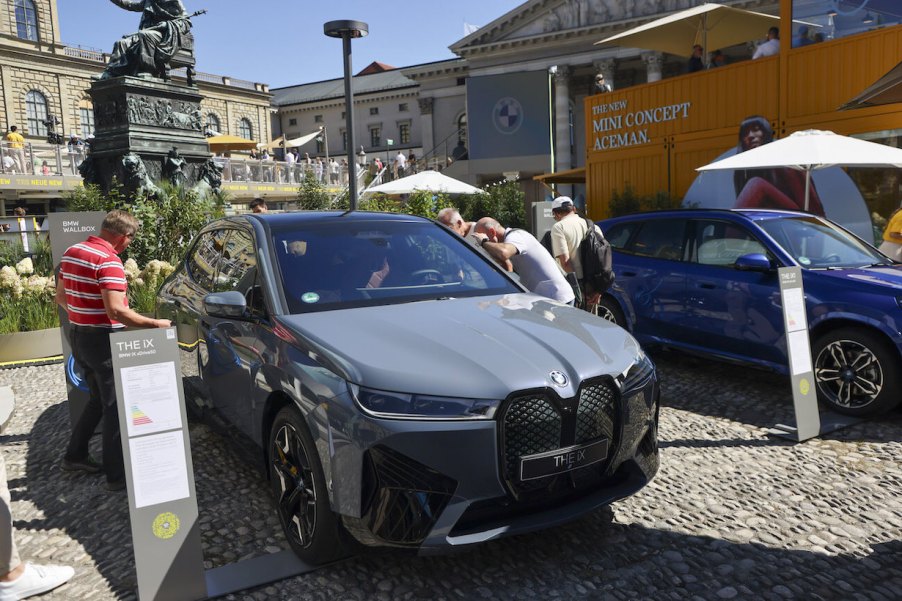
<path id="1" fill-rule="evenodd" d="M 386 391 L 498 399 L 619 375 L 640 348 L 614 324 L 533 294 L 424 301 L 281 317 L 350 382 Z"/>

